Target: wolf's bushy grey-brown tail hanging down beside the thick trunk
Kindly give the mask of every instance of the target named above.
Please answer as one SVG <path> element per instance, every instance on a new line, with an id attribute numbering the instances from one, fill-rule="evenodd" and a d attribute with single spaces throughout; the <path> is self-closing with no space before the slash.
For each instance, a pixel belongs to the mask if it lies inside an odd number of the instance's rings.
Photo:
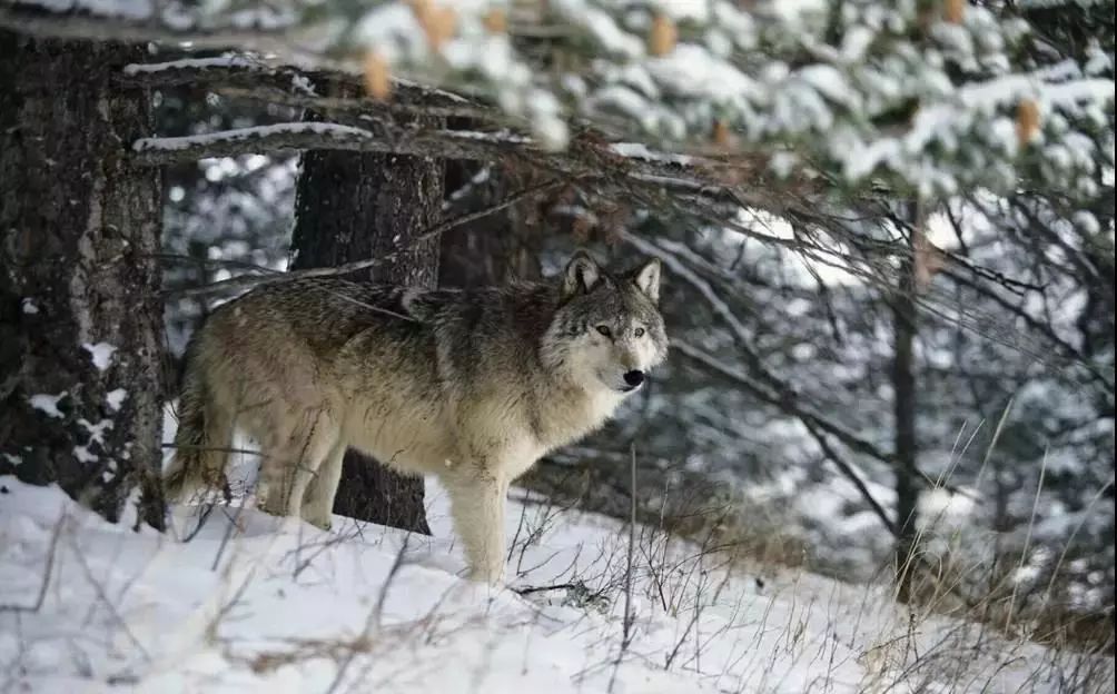
<path id="1" fill-rule="evenodd" d="M 220 423 L 208 413 L 210 395 L 198 359 L 187 350 L 187 372 L 179 394 L 179 431 L 174 434 L 174 457 L 163 471 L 163 492 L 168 501 L 182 502 L 207 489 L 221 489 L 228 500 L 225 475 L 228 436 Z"/>

